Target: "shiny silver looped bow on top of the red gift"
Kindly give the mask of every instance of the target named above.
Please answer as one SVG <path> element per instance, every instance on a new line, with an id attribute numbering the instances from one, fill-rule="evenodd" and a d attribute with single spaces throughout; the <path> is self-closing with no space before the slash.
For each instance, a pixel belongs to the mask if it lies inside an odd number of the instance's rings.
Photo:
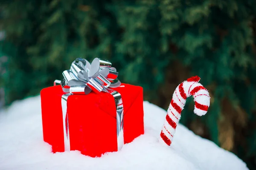
<path id="1" fill-rule="evenodd" d="M 108 92 L 108 87 L 118 87 L 121 82 L 117 79 L 116 68 L 111 62 L 99 58 L 90 64 L 86 59 L 77 58 L 70 70 L 63 71 L 64 79 L 61 86 L 64 92 L 70 94 L 89 94 L 91 91 Z"/>

